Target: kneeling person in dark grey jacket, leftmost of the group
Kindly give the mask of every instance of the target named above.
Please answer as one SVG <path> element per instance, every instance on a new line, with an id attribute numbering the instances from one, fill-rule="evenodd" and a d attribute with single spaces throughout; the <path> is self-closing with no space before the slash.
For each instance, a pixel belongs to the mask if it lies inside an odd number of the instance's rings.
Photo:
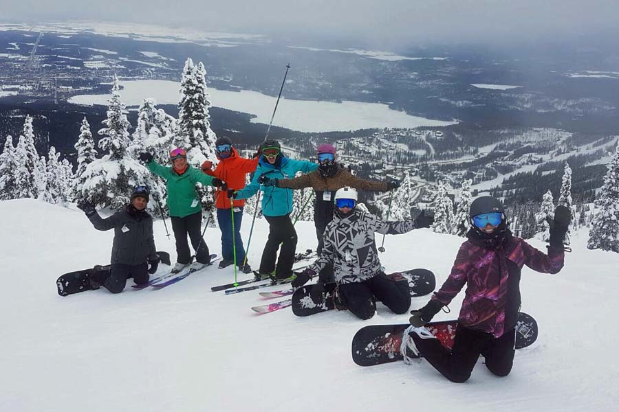
<path id="1" fill-rule="evenodd" d="M 78 203 L 97 230 L 114 229 L 111 252 L 111 271 L 96 272 L 90 277 L 92 288 L 104 286 L 111 293 L 120 293 L 127 284 L 127 277 L 133 277 L 135 284 L 149 282 L 149 273 L 157 271 L 159 257 L 153 238 L 153 218 L 146 211 L 149 190 L 146 186 L 135 187 L 131 203 L 109 218 L 101 218 L 94 205 L 87 201 Z"/>

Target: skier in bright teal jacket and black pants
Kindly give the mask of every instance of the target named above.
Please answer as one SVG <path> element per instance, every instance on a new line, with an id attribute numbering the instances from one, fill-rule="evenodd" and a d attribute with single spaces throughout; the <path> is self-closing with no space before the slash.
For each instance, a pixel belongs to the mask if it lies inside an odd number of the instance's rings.
<path id="1" fill-rule="evenodd" d="M 285 157 L 278 141 L 267 140 L 261 145 L 261 157 L 254 173 L 252 183 L 244 189 L 228 190 L 228 196 L 245 199 L 257 194 L 261 188 L 261 176 L 270 179 L 292 179 L 297 172 L 309 173 L 318 169 L 318 164 L 305 160 L 295 160 Z M 262 279 L 273 277 L 282 281 L 294 277 L 292 264 L 296 251 L 296 231 L 290 213 L 292 213 L 292 190 L 282 187 L 262 187 L 262 213 L 269 222 L 269 238 L 262 252 L 259 276 Z M 275 261 L 281 244 L 277 266 Z"/>

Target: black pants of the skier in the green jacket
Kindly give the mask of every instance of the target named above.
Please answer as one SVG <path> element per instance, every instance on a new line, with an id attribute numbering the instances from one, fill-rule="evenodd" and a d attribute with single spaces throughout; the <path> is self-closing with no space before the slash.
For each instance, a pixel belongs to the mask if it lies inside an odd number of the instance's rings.
<path id="1" fill-rule="evenodd" d="M 228 213 L 230 212 L 228 211 Z M 210 263 L 208 246 L 206 246 L 206 242 L 202 239 L 202 233 L 200 231 L 202 226 L 202 211 L 185 216 L 184 218 L 171 216 L 171 220 L 172 231 L 174 232 L 174 238 L 176 240 L 176 261 L 182 264 L 191 262 L 191 252 L 189 251 L 189 244 L 187 242 L 187 236 L 189 236 L 191 245 L 195 250 L 195 260 L 204 264 Z"/>

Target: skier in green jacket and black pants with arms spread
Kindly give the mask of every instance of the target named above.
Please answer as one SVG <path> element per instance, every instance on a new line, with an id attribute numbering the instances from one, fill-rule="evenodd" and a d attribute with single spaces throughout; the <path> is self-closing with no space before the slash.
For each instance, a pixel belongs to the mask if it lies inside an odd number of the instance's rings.
<path id="1" fill-rule="evenodd" d="M 195 250 L 195 262 L 191 264 L 190 269 L 197 271 L 203 268 L 210 263 L 210 253 L 202 238 L 202 233 L 200 233 L 202 205 L 195 190 L 195 184 L 199 182 L 203 185 L 222 187 L 223 190 L 226 190 L 226 184 L 217 178 L 213 178 L 213 176 L 208 176 L 208 174 L 192 168 L 187 163 L 187 154 L 182 148 L 174 149 L 170 153 L 171 168 L 155 163 L 153 155 L 150 153 L 140 154 L 140 160 L 146 163 L 152 173 L 161 176 L 166 181 L 168 208 L 177 253 L 176 264 L 172 268 L 172 273 L 182 271 L 191 263 L 187 235 Z"/>

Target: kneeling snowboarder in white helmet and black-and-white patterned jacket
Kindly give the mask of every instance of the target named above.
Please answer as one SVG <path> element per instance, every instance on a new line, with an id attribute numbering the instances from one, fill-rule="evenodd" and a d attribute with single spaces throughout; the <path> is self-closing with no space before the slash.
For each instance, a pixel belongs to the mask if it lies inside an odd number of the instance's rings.
<path id="1" fill-rule="evenodd" d="M 373 317 L 376 312 L 376 299 L 395 313 L 401 314 L 409 310 L 409 284 L 404 277 L 391 279 L 383 273 L 374 233 L 400 234 L 430 227 L 433 217 L 422 212 L 414 220 L 385 222 L 356 208 L 357 192 L 351 187 L 338 190 L 334 201 L 334 219 L 325 229 L 323 251 L 310 267 L 298 275 L 292 286 L 302 286 L 325 265 L 333 262 L 339 303 L 357 317 Z M 319 279 L 312 288 L 315 301 L 324 293 L 324 282 L 325 279 Z"/>

